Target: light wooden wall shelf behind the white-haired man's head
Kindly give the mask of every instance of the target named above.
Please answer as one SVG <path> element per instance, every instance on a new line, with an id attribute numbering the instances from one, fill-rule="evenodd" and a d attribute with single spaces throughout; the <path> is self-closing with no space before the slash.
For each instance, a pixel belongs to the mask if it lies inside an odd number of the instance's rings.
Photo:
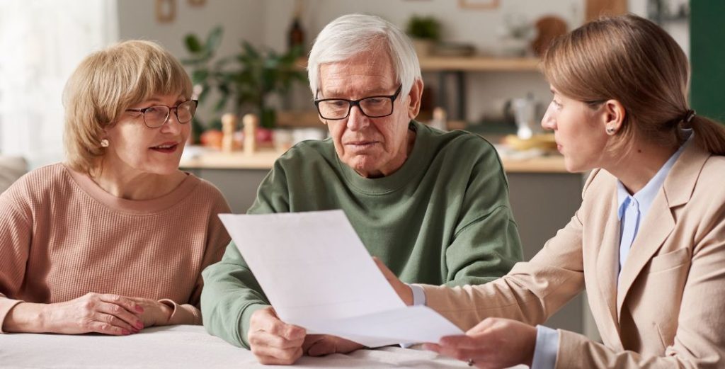
<path id="1" fill-rule="evenodd" d="M 537 58 L 502 57 L 420 57 L 423 72 L 460 70 L 466 72 L 538 72 Z M 299 59 L 297 67 L 307 67 L 307 59 Z"/>

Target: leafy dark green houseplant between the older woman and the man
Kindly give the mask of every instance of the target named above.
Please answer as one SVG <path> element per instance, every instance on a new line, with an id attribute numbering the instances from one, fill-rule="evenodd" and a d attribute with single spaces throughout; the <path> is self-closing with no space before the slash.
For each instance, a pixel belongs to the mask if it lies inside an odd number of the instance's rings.
<path id="1" fill-rule="evenodd" d="M 191 82 L 199 104 L 207 104 L 207 99 L 215 98 L 212 102 L 215 116 L 207 124 L 194 117 L 195 133 L 207 128 L 219 129 L 223 112 L 233 112 L 240 119 L 245 113 L 254 112 L 260 116 L 263 128 L 273 128 L 276 112 L 270 105 L 270 98 L 287 94 L 296 82 L 307 81 L 304 70 L 296 65 L 302 57 L 302 48 L 278 53 L 257 49 L 243 40 L 236 54 L 215 59 L 222 36 L 223 28 L 218 26 L 210 31 L 205 41 L 194 34 L 184 38 L 190 57 L 183 60 L 183 64 L 191 68 Z M 211 91 L 218 94 L 210 95 Z"/>

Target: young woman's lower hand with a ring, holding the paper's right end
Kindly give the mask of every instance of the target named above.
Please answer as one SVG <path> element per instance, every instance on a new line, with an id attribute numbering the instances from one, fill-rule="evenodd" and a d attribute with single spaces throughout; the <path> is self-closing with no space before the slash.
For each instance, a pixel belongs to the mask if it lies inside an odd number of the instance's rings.
<path id="1" fill-rule="evenodd" d="M 423 348 L 458 360 L 473 360 L 476 368 L 508 368 L 518 364 L 531 366 L 537 328 L 516 320 L 486 318 L 465 336 L 443 337 L 439 344 Z"/>

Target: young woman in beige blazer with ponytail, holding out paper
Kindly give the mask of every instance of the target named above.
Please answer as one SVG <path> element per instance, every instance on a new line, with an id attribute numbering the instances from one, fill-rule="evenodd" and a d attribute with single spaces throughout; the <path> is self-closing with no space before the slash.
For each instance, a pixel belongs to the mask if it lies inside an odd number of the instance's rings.
<path id="1" fill-rule="evenodd" d="M 725 128 L 688 106 L 687 57 L 626 15 L 558 38 L 544 74 L 542 126 L 568 170 L 593 170 L 581 208 L 498 281 L 422 286 L 470 328 L 429 348 L 479 368 L 725 368 Z M 532 326 L 585 288 L 603 344 Z"/>

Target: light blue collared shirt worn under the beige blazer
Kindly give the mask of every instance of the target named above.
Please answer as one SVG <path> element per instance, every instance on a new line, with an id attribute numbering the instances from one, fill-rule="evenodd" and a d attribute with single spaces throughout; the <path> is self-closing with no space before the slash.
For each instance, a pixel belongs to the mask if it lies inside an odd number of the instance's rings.
<path id="1" fill-rule="evenodd" d="M 690 139 L 692 135 L 690 135 Z M 687 140 L 689 141 L 689 139 Z M 617 283 L 621 275 L 622 267 L 629 256 L 634 237 L 637 236 L 642 220 L 647 218 L 652 202 L 665 183 L 672 166 L 682 154 L 687 142 L 672 154 L 655 176 L 637 194 L 630 195 L 624 185 L 617 181 L 617 217 L 620 223 L 619 239 L 619 268 Z M 534 359 L 531 360 L 531 369 L 552 369 L 556 363 L 556 353 L 559 351 L 559 332 L 548 327 L 537 326 L 537 344 L 534 349 Z"/>

